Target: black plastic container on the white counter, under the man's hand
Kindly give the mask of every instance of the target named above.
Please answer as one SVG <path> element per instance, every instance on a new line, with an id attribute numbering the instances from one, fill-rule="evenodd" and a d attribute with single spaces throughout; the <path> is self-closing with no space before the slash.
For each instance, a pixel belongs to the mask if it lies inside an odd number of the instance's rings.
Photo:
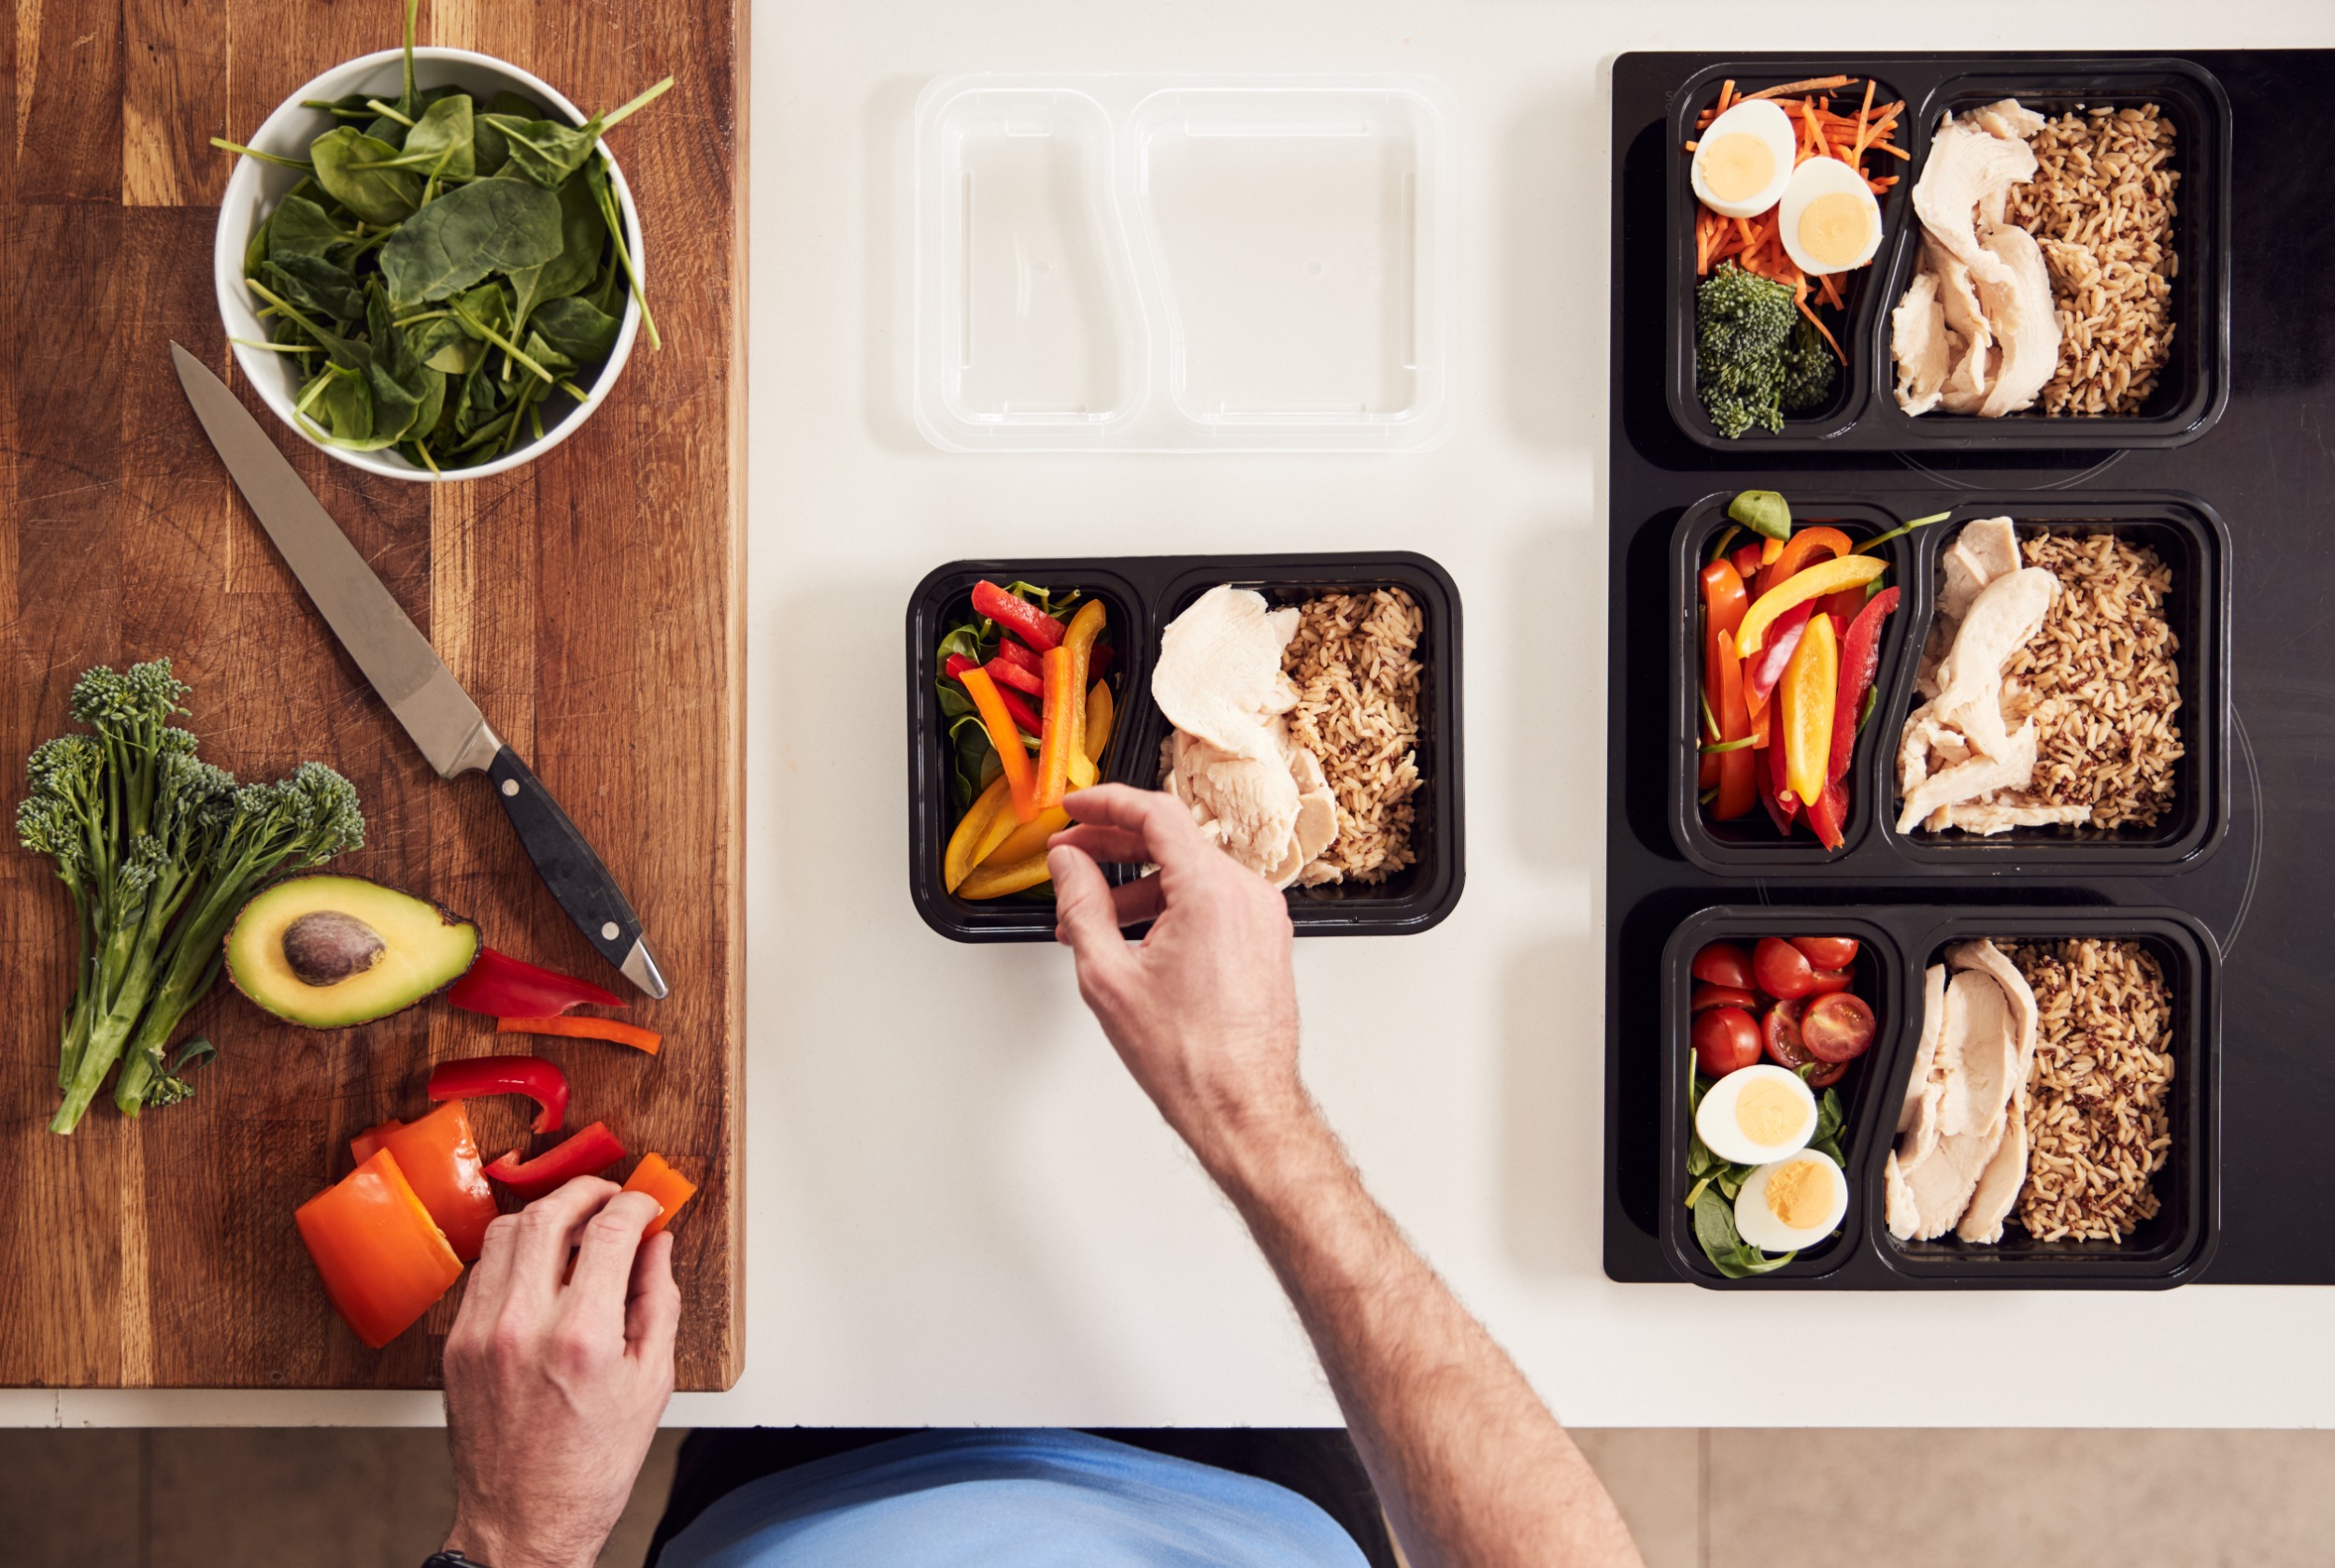
<path id="1" fill-rule="evenodd" d="M 962 900 L 941 886 L 941 853 L 955 827 L 948 734 L 936 696 L 941 631 L 969 615 L 974 584 L 1037 582 L 1051 591 L 1097 594 L 1118 650 L 1107 680 L 1116 706 L 1102 778 L 1156 790 L 1168 720 L 1151 703 L 1151 666 L 1160 631 L 1217 584 L 1256 589 L 1296 603 L 1315 594 L 1399 587 L 1424 617 L 1420 633 L 1420 792 L 1413 797 L 1410 846 L 1417 860 L 1385 883 L 1289 888 L 1289 918 L 1301 937 L 1406 935 L 1436 925 L 1459 902 L 1466 881 L 1459 731 L 1459 589 L 1420 554 L 1296 556 L 1097 556 L 1086 561 L 950 561 L 908 598 L 908 890 L 915 911 L 955 942 L 1051 942 L 1051 890 Z M 1107 867 L 1114 881 L 1132 867 Z"/>

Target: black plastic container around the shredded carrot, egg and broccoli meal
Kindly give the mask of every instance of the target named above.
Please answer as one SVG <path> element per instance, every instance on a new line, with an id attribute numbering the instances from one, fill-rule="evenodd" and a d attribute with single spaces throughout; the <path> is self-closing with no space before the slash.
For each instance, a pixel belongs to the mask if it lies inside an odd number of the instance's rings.
<path id="1" fill-rule="evenodd" d="M 1905 100 L 1896 145 L 1901 180 L 1882 196 L 1882 248 L 1868 266 L 1849 273 L 1849 332 L 1831 407 L 1805 418 L 1786 418 L 1782 435 L 1719 435 L 1695 395 L 1695 192 L 1688 185 L 1684 143 L 1695 136 L 1695 117 L 1716 103 L 1728 77 L 1740 91 L 1758 91 L 1807 77 L 1849 75 L 1880 82 L 1873 100 Z M 1905 294 L 1922 250 L 1922 224 L 1912 215 L 1912 185 L 1922 178 L 1938 122 L 1959 110 L 2017 98 L 2038 115 L 2076 105 L 2155 103 L 2176 126 L 2174 250 L 2172 280 L 2174 348 L 2141 414 L 2048 418 L 2038 411 L 2003 418 L 1975 414 L 1922 414 L 1896 407 L 1896 369 L 1889 358 L 1889 311 Z M 1667 376 L 1670 416 L 1686 439 L 1709 451 L 1747 458 L 1807 451 L 2001 451 L 2001 449 L 2127 449 L 2181 446 L 2214 428 L 2230 402 L 2230 98 L 2214 72 L 2179 58 L 2092 58 L 2045 54 L 1873 54 L 1812 56 L 1805 61 L 1721 61 L 1686 77 L 1670 100 L 1667 187 L 1670 213 L 1670 308 Z"/>

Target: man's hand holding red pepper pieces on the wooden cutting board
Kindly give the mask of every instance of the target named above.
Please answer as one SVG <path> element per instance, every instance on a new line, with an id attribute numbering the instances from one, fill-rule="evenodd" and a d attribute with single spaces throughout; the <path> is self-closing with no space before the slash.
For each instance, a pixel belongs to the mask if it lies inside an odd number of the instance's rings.
<path id="1" fill-rule="evenodd" d="M 579 1175 L 486 1227 L 446 1339 L 448 1549 L 588 1568 L 672 1397 L 672 1236 L 656 1199 Z M 574 1274 L 567 1257 L 574 1248 Z"/>

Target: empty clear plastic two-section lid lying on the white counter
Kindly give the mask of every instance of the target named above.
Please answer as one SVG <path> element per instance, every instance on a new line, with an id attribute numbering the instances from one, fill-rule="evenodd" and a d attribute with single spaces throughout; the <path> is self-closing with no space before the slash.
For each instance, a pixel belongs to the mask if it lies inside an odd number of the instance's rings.
<path id="1" fill-rule="evenodd" d="M 936 446 L 1401 451 L 1441 428 L 1438 82 L 960 75 L 915 124 Z"/>

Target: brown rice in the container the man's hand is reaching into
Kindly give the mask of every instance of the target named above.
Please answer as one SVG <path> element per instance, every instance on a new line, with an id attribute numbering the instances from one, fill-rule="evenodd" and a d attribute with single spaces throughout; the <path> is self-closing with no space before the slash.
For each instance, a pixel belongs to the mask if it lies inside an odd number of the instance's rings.
<path id="1" fill-rule="evenodd" d="M 1289 731 L 1322 759 L 1338 837 L 1322 862 L 1380 883 L 1415 860 L 1420 647 L 1424 617 L 1403 589 L 1322 594 L 1301 605 L 1282 671 L 1298 687 Z"/>

